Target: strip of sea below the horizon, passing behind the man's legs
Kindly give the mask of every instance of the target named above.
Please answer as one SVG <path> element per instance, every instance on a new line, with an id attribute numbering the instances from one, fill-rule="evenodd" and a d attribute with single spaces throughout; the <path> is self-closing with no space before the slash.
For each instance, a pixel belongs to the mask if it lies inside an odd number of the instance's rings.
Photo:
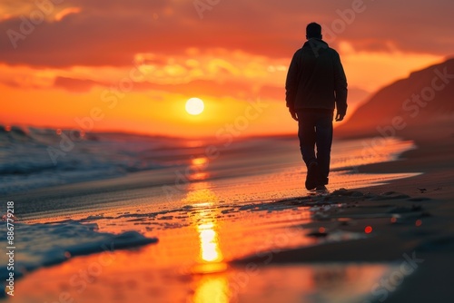
<path id="1" fill-rule="evenodd" d="M 331 171 L 391 161 L 395 138 L 335 141 Z M 295 136 L 183 140 L 126 133 L 0 126 L 0 195 L 154 171 L 160 185 L 303 169 Z M 172 170 L 173 173 L 165 171 Z"/>

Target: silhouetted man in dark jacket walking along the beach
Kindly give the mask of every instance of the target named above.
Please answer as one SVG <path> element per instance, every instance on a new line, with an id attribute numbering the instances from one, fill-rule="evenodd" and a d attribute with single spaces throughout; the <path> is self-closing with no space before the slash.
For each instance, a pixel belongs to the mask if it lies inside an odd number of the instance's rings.
<path id="1" fill-rule="evenodd" d="M 306 38 L 291 59 L 285 99 L 298 121 L 302 160 L 308 168 L 306 189 L 323 191 L 330 173 L 333 112 L 336 108 L 336 121 L 347 112 L 347 80 L 339 54 L 321 40 L 321 25 L 308 24 Z"/>

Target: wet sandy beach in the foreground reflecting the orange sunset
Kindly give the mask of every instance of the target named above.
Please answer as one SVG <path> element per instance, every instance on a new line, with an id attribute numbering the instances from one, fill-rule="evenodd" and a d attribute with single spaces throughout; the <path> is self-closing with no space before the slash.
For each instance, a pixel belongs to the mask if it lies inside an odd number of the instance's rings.
<path id="1" fill-rule="evenodd" d="M 3 197 L 15 200 L 20 269 L 6 297 L 451 302 L 454 138 L 429 133 L 403 133 L 416 148 L 397 161 L 333 170 L 330 192 L 302 190 L 292 153 L 283 170 L 199 175 L 181 190 L 143 171 Z"/>

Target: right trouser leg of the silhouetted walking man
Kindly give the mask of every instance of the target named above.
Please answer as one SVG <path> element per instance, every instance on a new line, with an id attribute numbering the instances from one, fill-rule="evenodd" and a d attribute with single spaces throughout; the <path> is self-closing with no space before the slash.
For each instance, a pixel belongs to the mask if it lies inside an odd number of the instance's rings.
<path id="1" fill-rule="evenodd" d="M 317 161 L 319 163 L 319 185 L 328 184 L 332 143 L 332 112 L 322 112 L 316 121 Z"/>

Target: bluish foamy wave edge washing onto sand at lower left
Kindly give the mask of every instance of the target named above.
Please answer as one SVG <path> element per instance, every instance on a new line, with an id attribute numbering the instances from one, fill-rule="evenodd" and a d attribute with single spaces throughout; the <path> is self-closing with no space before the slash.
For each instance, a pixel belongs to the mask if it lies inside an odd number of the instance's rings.
<path id="1" fill-rule="evenodd" d="M 25 224 L 15 223 L 15 234 L 20 235 L 14 247 L 15 279 L 26 273 L 45 266 L 62 263 L 75 256 L 92 253 L 108 253 L 116 249 L 128 249 L 158 241 L 146 238 L 136 231 L 125 231 L 121 234 L 98 232 L 96 224 L 82 224 L 67 220 L 59 223 Z M 0 230 L 6 234 L 6 224 Z M 1 241 L 3 247 L 6 239 Z M 7 261 L 6 261 L 7 262 Z M 11 270 L 7 263 L 0 268 L 0 279 L 7 279 Z"/>

